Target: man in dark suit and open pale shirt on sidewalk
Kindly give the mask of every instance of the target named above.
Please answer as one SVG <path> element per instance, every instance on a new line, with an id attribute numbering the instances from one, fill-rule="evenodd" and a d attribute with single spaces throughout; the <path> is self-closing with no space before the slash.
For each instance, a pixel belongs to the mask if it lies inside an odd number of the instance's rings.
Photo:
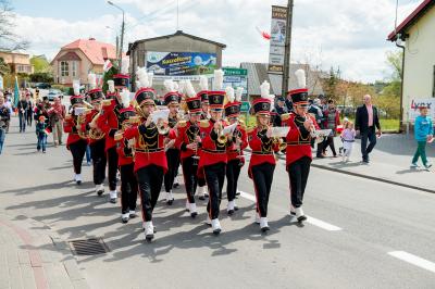
<path id="1" fill-rule="evenodd" d="M 357 109 L 355 116 L 355 128 L 357 134 L 361 135 L 361 154 L 362 162 L 369 163 L 369 154 L 372 152 L 374 146 L 376 146 L 376 131 L 381 136 L 381 124 L 377 113 L 377 108 L 372 104 L 372 97 L 365 95 L 363 97 L 364 104 Z M 369 146 L 368 146 L 369 140 Z"/>

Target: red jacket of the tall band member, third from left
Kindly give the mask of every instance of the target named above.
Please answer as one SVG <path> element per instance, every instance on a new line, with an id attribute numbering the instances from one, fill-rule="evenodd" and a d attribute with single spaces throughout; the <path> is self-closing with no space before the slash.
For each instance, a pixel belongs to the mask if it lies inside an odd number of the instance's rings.
<path id="1" fill-rule="evenodd" d="M 105 151 L 116 146 L 114 135 L 122 128 L 120 122 L 121 109 L 117 100 L 112 99 L 110 105 L 102 106 L 101 115 L 98 117 L 97 126 L 105 134 Z"/>

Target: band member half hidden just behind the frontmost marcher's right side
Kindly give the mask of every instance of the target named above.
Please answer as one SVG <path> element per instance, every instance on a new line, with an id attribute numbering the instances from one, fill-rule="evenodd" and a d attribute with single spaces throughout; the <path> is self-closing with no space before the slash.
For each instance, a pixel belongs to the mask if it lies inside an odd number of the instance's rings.
<path id="1" fill-rule="evenodd" d="M 170 110 L 167 118 L 169 127 L 174 128 L 178 122 L 178 110 L 181 97 L 175 90 L 175 83 L 172 79 L 164 80 L 164 86 L 167 93 L 164 96 L 164 104 Z M 175 177 L 178 173 L 179 166 L 179 150 L 175 144 L 175 134 L 170 134 L 166 139 L 166 159 L 167 159 L 167 173 L 164 175 L 164 189 L 166 191 L 166 204 L 172 205 L 174 202 L 174 196 L 172 194 L 172 188 L 174 186 Z"/>

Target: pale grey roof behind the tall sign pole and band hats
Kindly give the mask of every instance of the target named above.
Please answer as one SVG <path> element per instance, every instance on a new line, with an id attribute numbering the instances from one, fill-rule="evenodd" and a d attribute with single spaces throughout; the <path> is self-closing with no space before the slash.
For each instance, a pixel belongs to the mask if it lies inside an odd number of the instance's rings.
<path id="1" fill-rule="evenodd" d="M 268 80 L 271 84 L 271 93 L 281 96 L 283 77 L 281 74 L 269 74 L 268 63 L 240 63 L 241 68 L 248 70 L 248 95 L 260 96 L 260 85 Z M 295 89 L 297 80 L 295 72 L 297 70 L 304 70 L 307 72 L 307 87 L 310 95 L 323 95 L 322 84 L 320 81 L 320 72 L 311 71 L 308 64 L 290 64 L 290 81 L 289 90 Z"/>

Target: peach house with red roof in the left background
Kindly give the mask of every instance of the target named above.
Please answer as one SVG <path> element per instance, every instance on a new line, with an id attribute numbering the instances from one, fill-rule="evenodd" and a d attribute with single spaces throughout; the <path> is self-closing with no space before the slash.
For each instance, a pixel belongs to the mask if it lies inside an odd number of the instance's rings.
<path id="1" fill-rule="evenodd" d="M 102 75 L 107 60 L 116 60 L 116 48 L 113 45 L 95 38 L 75 40 L 62 47 L 51 61 L 54 83 L 72 86 L 73 80 L 79 79 L 80 84 L 87 84 L 89 72 Z"/>

